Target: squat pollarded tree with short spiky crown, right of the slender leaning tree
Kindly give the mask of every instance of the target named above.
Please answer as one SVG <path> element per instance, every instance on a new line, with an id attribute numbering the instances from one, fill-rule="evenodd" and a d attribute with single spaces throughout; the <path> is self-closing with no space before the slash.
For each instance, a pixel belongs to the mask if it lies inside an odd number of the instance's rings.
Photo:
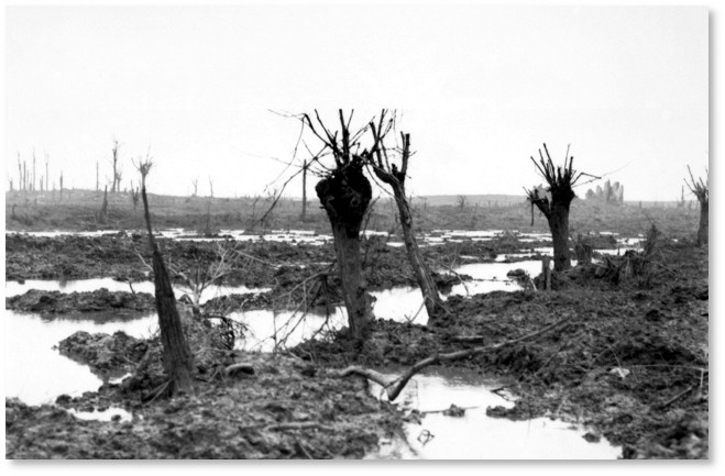
<path id="1" fill-rule="evenodd" d="M 531 157 L 531 162 L 539 170 L 547 182 L 546 189 L 534 187 L 526 190 L 528 200 L 531 202 L 531 211 L 536 206 L 549 222 L 551 240 L 553 242 L 553 269 L 561 272 L 571 268 L 569 252 L 569 208 L 571 201 L 576 198 L 574 185 L 579 179 L 589 174 L 578 173 L 572 164 L 573 156 L 569 156 L 569 148 L 564 156 L 563 166 L 554 167 L 551 155 L 547 145 L 543 144 L 543 151 L 547 154 L 545 160 L 543 154 L 539 148 L 539 162 Z"/>

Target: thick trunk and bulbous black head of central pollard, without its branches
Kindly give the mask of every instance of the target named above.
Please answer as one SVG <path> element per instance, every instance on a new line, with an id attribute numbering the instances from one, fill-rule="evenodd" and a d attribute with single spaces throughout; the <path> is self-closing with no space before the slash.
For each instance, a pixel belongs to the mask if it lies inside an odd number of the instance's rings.
<path id="1" fill-rule="evenodd" d="M 363 175 L 362 163 L 353 162 L 320 180 L 315 191 L 332 225 L 350 337 L 362 344 L 373 321 L 360 255 L 360 229 L 372 199 L 372 188 Z"/>

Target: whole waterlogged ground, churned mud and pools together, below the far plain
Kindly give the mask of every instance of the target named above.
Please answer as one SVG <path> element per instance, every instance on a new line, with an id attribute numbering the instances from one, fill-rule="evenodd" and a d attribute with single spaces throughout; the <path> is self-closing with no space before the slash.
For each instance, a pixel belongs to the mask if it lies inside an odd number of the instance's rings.
<path id="1" fill-rule="evenodd" d="M 648 283 L 630 281 L 623 288 L 609 280 L 605 273 L 608 264 L 597 256 L 622 259 L 626 251 L 641 250 L 642 237 L 600 234 L 593 237 L 600 253 L 595 253 L 594 264 L 574 268 L 557 281 L 561 290 L 545 294 L 532 291 L 530 284 L 541 272 L 541 257 L 551 254 L 547 234 L 432 231 L 421 236 L 420 244 L 438 274 L 451 313 L 438 329 L 430 329 L 399 239 L 386 232 L 366 235 L 366 279 L 377 322 L 370 346 L 351 356 L 340 346 L 339 331 L 347 324 L 347 316 L 336 292 L 337 277 L 329 273 L 333 262 L 330 236 L 306 231 L 259 235 L 222 230 L 215 236 L 180 229 L 158 232 L 164 252 L 179 267 L 191 266 L 199 257 L 213 258 L 219 244 L 235 244 L 242 257 L 239 268 L 222 285 L 206 289 L 199 301 L 202 313 L 221 309 L 230 321 L 242 325 L 243 332 L 235 335 L 233 350 L 215 351 L 213 358 L 205 351 L 207 337 L 193 339 L 193 345 L 199 356 L 204 354 L 199 365 L 207 373 L 213 374 L 215 362 L 240 361 L 249 363 L 253 373 L 208 380 L 205 385 L 209 389 L 197 397 L 142 403 L 139 390 L 123 395 L 124 378 L 138 362 L 99 372 L 98 362 L 92 362 L 96 357 L 88 357 L 97 354 L 86 353 L 83 358 L 73 355 L 72 359 L 57 346 L 77 331 L 85 331 L 109 334 L 96 342 L 106 345 L 106 351 L 113 350 L 121 339 L 114 333 L 122 331 L 139 340 L 133 345 L 145 346 L 147 342 L 149 348 L 156 348 L 155 313 L 128 307 L 112 309 L 114 300 L 109 301 L 112 306 L 108 309 L 92 312 L 92 307 L 65 312 L 66 308 L 53 305 L 59 302 L 57 292 L 75 296 L 78 302 L 88 301 L 101 289 L 114 297 L 153 294 L 153 284 L 139 258 L 145 253 L 142 236 L 113 231 L 8 234 L 4 289 L 6 297 L 11 298 L 7 307 L 12 309 L 6 311 L 6 397 L 18 399 L 7 402 L 8 454 L 706 456 L 706 252 L 693 254 L 682 241 L 663 243 L 662 255 L 679 263 L 684 270 L 682 278 L 673 281 L 661 270 L 649 276 Z M 312 292 L 311 279 L 318 275 L 326 276 L 325 299 Z M 32 294 L 39 290 L 47 295 Z M 177 285 L 177 298 L 187 291 Z M 21 299 L 23 296 L 29 299 Z M 102 307 L 106 301 L 92 302 Z M 299 302 L 308 306 L 299 307 Z M 179 307 L 185 319 L 191 319 L 190 301 L 182 299 Z M 431 367 L 414 377 L 395 405 L 378 400 L 378 388 L 367 386 L 364 379 L 334 376 L 334 369 L 351 359 L 399 373 L 437 352 L 513 339 L 561 316 L 573 321 L 562 335 Z M 601 335 L 609 337 L 600 343 Z M 675 374 L 664 372 L 675 367 Z M 144 385 L 157 381 L 154 378 L 151 373 Z M 243 381 L 237 385 L 240 379 Z M 686 395 L 672 399 L 690 387 Z M 655 388 L 661 389 L 661 397 L 653 398 Z M 252 401 L 251 407 L 239 407 Z M 453 411 L 444 411 L 451 405 Z M 172 418 L 169 408 L 174 409 Z M 243 413 L 240 418 L 244 422 L 227 421 L 231 413 Z M 206 435 L 210 428 L 216 428 L 217 434 L 205 436 L 207 443 L 193 449 L 180 434 L 175 435 L 174 427 L 184 429 L 187 436 Z M 113 428 L 122 429 L 123 434 L 109 436 Z M 168 444 L 160 445 L 160 428 Z M 690 430 L 682 433 L 681 428 Z M 67 442 L 44 438 L 48 432 L 62 432 Z M 100 433 L 118 449 L 94 450 L 89 442 Z M 224 435 L 227 441 L 222 441 Z"/>

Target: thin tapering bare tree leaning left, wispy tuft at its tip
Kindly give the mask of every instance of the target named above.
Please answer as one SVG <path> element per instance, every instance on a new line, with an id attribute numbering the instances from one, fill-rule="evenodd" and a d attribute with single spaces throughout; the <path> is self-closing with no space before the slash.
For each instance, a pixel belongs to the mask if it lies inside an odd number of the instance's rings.
<path id="1" fill-rule="evenodd" d="M 182 319 L 176 308 L 174 288 L 151 226 L 149 199 L 146 198 L 146 176 L 152 165 L 149 155 L 145 159 L 140 158 L 139 163 L 134 164 L 141 174 L 141 199 L 143 200 L 144 219 L 149 231 L 149 245 L 153 253 L 154 294 L 156 297 L 156 311 L 158 312 L 161 342 L 164 347 L 164 369 L 169 379 L 168 391 L 173 395 L 177 390 L 191 391 L 194 389 L 194 356 L 184 335 Z"/>

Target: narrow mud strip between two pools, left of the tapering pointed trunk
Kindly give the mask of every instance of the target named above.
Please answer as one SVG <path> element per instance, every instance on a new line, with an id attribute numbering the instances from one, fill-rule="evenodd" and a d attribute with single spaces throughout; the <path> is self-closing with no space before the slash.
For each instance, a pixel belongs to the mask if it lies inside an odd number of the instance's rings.
<path id="1" fill-rule="evenodd" d="M 106 288 L 95 291 L 70 292 L 31 289 L 24 295 L 6 298 L 6 309 L 40 314 L 73 312 L 154 310 L 154 297 L 147 292 L 111 292 Z"/>

